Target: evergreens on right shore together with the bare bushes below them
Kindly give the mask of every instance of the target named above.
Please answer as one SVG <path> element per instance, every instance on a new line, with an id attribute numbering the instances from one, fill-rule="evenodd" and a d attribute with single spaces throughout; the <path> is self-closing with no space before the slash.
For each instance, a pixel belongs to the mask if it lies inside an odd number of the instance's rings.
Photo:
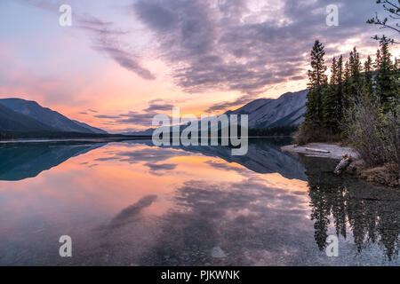
<path id="1" fill-rule="evenodd" d="M 325 75 L 324 45 L 318 40 L 311 51 L 305 122 L 296 135 L 299 144 L 348 141 L 367 167 L 400 169 L 400 70 L 391 59 L 393 41 L 380 39 L 376 58 L 364 63 L 356 50 L 348 60 L 332 59 L 331 78 Z"/>

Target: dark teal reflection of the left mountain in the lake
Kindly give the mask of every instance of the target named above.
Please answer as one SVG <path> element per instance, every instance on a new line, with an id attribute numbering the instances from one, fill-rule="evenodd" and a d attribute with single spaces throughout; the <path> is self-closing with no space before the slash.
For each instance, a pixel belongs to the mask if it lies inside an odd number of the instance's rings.
<path id="1" fill-rule="evenodd" d="M 69 158 L 87 153 L 104 144 L 60 145 L 44 143 L 0 147 L 0 180 L 21 180 L 36 177 Z"/>

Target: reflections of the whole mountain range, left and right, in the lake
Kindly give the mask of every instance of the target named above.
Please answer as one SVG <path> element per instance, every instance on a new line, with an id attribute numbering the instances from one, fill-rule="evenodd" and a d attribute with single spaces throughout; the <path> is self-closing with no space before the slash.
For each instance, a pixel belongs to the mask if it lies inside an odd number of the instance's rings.
<path id="1" fill-rule="evenodd" d="M 132 143 L 146 144 L 153 146 L 151 141 L 134 140 Z M 20 180 L 27 177 L 36 177 L 43 170 L 49 170 L 67 161 L 78 154 L 84 154 L 104 144 L 87 145 L 66 145 L 28 143 L 15 146 L 0 147 L 0 180 Z M 244 156 L 233 156 L 231 148 L 227 146 L 179 146 L 180 149 L 191 153 L 200 153 L 206 156 L 219 157 L 227 162 L 236 162 L 245 168 L 257 173 L 279 173 L 286 178 L 297 178 L 307 180 L 304 168 L 288 153 L 282 153 L 278 146 L 257 142 L 249 144 L 249 151 Z M 139 152 L 138 152 L 139 151 Z M 152 157 L 161 159 L 165 155 L 172 156 L 172 153 L 160 148 L 156 154 L 151 149 L 140 149 L 124 154 L 134 156 L 134 161 L 151 162 Z M 143 156 L 141 159 L 139 156 Z M 108 159 L 108 158 L 107 158 Z M 212 164 L 214 165 L 214 164 Z"/>

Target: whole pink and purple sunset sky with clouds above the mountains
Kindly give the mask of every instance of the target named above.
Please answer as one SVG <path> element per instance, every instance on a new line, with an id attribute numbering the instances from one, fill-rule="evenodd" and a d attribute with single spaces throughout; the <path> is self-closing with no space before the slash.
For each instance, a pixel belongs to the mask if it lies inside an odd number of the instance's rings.
<path id="1" fill-rule="evenodd" d="M 111 133 L 155 114 L 221 114 L 307 88 L 309 52 L 329 64 L 374 57 L 374 0 L 1 0 L 0 98 L 40 105 Z M 60 26 L 62 4 L 72 25 Z M 339 8 L 339 26 L 326 7 Z M 392 47 L 400 56 L 400 47 Z"/>

